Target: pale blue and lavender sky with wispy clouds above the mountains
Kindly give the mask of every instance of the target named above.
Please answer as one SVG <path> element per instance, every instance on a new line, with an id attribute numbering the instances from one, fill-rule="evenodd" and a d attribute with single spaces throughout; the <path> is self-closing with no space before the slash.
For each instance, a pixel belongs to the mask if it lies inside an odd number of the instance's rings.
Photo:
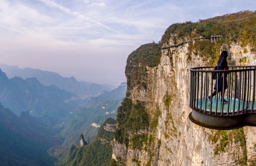
<path id="1" fill-rule="evenodd" d="M 0 0 L 0 63 L 119 85 L 128 55 L 171 24 L 244 10 L 255 0 Z"/>

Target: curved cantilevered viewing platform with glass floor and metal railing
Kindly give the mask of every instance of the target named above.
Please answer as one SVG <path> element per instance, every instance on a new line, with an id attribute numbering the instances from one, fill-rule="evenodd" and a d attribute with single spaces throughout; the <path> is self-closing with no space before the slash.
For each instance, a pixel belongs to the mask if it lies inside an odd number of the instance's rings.
<path id="1" fill-rule="evenodd" d="M 256 66 L 230 66 L 229 70 L 213 70 L 214 67 L 190 69 L 190 107 L 189 119 L 193 123 L 212 129 L 236 129 L 243 126 L 256 126 Z M 226 80 L 213 80 L 213 73 L 227 75 Z M 223 74 L 224 73 L 224 74 Z M 222 82 L 221 82 L 222 81 Z M 217 93 L 208 101 L 214 91 L 214 85 L 224 85 L 224 99 Z"/>

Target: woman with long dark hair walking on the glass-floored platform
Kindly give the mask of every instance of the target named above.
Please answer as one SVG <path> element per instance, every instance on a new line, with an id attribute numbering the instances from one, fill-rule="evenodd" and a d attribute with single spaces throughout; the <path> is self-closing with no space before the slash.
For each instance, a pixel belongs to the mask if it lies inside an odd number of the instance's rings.
<path id="1" fill-rule="evenodd" d="M 220 54 L 219 61 L 218 61 L 218 67 L 217 70 L 228 70 L 228 63 L 227 63 L 227 57 L 228 57 L 228 52 L 223 50 Z M 224 79 L 224 88 L 223 88 L 223 79 Z M 217 85 L 218 84 L 218 85 Z M 214 86 L 214 92 L 212 93 L 211 96 L 208 96 L 209 102 L 211 102 L 212 97 L 214 97 L 218 93 L 221 92 L 221 103 L 228 103 L 225 99 L 225 90 L 228 88 L 228 83 L 227 83 L 227 73 L 219 73 L 218 74 L 218 83 L 216 81 L 215 86 Z M 222 92 L 223 91 L 223 92 Z"/>

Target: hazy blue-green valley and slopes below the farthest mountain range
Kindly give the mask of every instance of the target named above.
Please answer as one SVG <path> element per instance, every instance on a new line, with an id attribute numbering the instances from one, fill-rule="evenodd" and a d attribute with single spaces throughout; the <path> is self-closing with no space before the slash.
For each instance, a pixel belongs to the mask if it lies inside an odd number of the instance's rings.
<path id="1" fill-rule="evenodd" d="M 108 118 L 116 118 L 127 87 L 122 83 L 95 96 L 101 90 L 97 88 L 85 97 L 56 85 L 43 85 L 35 77 L 9 79 L 2 70 L 0 85 L 0 101 L 4 105 L 0 105 L 0 162 L 4 166 L 54 165 L 60 162 L 59 155 L 66 154 L 65 149 L 79 143 L 80 134 L 85 142 L 98 144 L 95 136 L 99 127 Z M 26 153 L 21 155 L 19 151 L 24 150 Z"/>

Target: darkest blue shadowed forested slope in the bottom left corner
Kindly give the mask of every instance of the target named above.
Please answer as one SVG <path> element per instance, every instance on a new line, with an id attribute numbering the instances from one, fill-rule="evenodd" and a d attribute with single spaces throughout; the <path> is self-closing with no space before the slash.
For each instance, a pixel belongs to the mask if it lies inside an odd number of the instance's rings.
<path id="1" fill-rule="evenodd" d="M 0 165 L 52 165 L 56 159 L 47 150 L 63 142 L 59 132 L 28 112 L 17 117 L 0 104 Z"/>

